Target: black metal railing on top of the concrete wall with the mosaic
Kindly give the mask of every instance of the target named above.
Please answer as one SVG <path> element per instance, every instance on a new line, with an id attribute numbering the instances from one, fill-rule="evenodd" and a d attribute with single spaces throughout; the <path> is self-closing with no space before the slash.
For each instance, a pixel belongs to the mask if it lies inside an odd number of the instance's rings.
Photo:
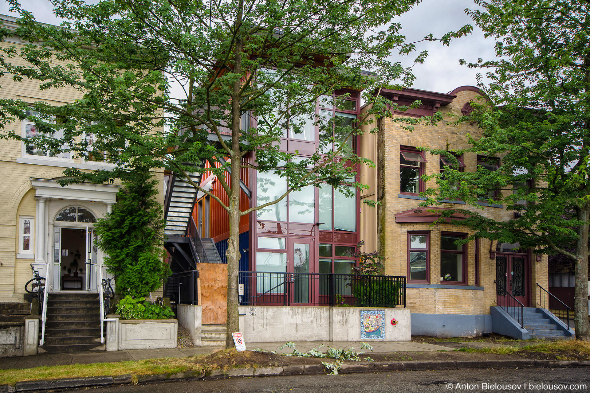
<path id="1" fill-rule="evenodd" d="M 240 272 L 241 305 L 406 306 L 404 276 Z"/>

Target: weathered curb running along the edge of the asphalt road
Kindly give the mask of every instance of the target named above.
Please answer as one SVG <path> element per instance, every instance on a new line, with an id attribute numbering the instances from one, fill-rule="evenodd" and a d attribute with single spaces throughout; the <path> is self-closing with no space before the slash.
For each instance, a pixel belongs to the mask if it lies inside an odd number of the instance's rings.
<path id="1" fill-rule="evenodd" d="M 409 361 L 409 362 L 371 362 L 369 364 L 345 363 L 340 366 L 340 374 L 379 371 L 424 371 L 431 369 L 476 369 L 476 368 L 550 368 L 590 366 L 590 361 L 550 361 L 550 360 L 489 360 L 489 361 Z M 231 377 L 271 377 L 278 375 L 314 375 L 326 374 L 319 364 L 283 367 L 234 368 L 226 372 L 221 369 L 211 372 L 178 372 L 176 374 L 137 375 L 134 382 L 131 374 L 116 377 L 86 377 L 43 379 L 41 381 L 23 381 L 12 385 L 0 385 L 0 393 L 27 392 L 32 390 L 50 390 L 81 388 L 91 386 L 108 386 L 123 384 L 140 384 L 147 382 L 180 381 L 182 379 L 221 379 Z"/>

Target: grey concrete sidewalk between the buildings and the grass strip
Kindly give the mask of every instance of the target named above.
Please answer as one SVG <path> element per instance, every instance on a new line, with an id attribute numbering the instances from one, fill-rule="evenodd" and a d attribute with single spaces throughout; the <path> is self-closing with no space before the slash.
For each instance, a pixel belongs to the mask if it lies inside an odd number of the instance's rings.
<path id="1" fill-rule="evenodd" d="M 265 351 L 277 351 L 284 343 L 278 342 L 253 342 L 246 343 L 246 348 L 264 349 Z M 301 341 L 295 342 L 295 348 L 301 352 L 321 344 L 333 346 L 334 348 L 353 347 L 357 351 L 371 352 L 367 349 L 361 349 L 359 342 L 329 342 L 329 341 Z M 434 345 L 422 342 L 368 342 L 373 347 L 373 353 L 380 352 L 428 352 L 428 351 L 454 351 L 456 348 L 444 345 Z M 489 346 L 503 346 L 500 344 L 491 344 L 487 342 L 462 342 L 461 346 L 471 346 L 473 348 L 487 348 Z M 0 358 L 0 369 L 9 368 L 32 368 L 39 366 L 58 366 L 70 364 L 90 364 L 102 362 L 120 362 L 127 360 L 143 360 L 156 358 L 185 358 L 193 355 L 208 355 L 223 349 L 220 346 L 195 346 L 194 348 L 185 349 L 132 349 L 129 351 L 88 351 L 76 352 L 74 354 L 40 354 L 34 356 L 21 356 L 15 358 Z M 326 348 L 323 348 L 325 351 Z M 278 353 L 287 354 L 293 352 L 291 348 L 284 348 Z"/>

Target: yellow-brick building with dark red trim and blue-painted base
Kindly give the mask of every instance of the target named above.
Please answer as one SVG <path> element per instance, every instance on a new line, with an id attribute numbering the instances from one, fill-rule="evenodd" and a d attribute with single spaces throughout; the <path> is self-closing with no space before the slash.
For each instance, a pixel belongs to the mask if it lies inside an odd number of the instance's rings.
<path id="1" fill-rule="evenodd" d="M 382 94 L 402 105 L 421 100 L 419 108 L 394 114 L 419 117 L 435 111 L 461 115 L 461 111 L 469 110 L 468 103 L 476 100 L 479 90 L 463 86 L 448 94 L 415 89 Z M 514 293 L 522 295 L 517 299 L 525 306 L 535 307 L 536 283 L 547 288 L 546 256 L 539 258 L 530 250 L 514 253 L 513 245 L 498 245 L 486 239 L 454 246 L 454 240 L 470 235 L 467 228 L 450 223 L 433 225 L 437 214 L 418 209 L 423 200 L 419 192 L 436 187 L 436 182 L 433 179 L 424 183 L 416 175 L 439 173 L 442 164 L 439 156 L 416 148 L 466 148 L 467 133 L 476 138 L 480 135 L 476 124 L 445 123 L 415 126 L 410 133 L 385 118 L 379 122 L 377 134 L 365 133 L 360 141 L 360 156 L 376 163 L 376 168 L 360 169 L 361 181 L 369 185 L 361 199 L 381 202 L 376 209 L 363 205 L 361 237 L 366 250 L 380 250 L 386 257 L 386 274 L 407 276 L 412 335 L 469 336 L 490 332 L 490 306 L 496 306 L 494 279 L 513 286 Z M 460 157 L 465 171 L 475 171 L 478 160 L 486 164 L 485 158 L 476 154 Z M 502 206 L 482 204 L 486 206 L 482 214 L 487 217 L 513 217 L 513 212 Z M 442 208 L 455 206 L 465 205 L 454 201 L 444 203 Z"/>

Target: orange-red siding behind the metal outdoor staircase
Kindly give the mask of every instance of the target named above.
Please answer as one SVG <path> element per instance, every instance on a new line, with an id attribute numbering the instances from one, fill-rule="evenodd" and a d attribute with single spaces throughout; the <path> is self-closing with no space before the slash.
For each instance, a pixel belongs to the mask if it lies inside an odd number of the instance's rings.
<path id="1" fill-rule="evenodd" d="M 211 165 L 207 162 L 205 164 L 205 168 L 210 167 Z M 207 178 L 211 176 L 211 174 L 211 171 L 205 171 L 205 173 L 203 174 L 203 179 L 207 180 Z M 248 177 L 248 169 L 241 169 L 241 179 L 245 184 L 250 184 L 250 179 Z M 231 181 L 231 176 L 227 176 L 227 181 Z M 217 196 L 219 199 L 221 199 L 223 203 L 229 203 L 228 196 L 225 193 L 223 187 L 221 186 L 221 181 L 215 181 L 211 189 L 211 193 Z M 203 203 L 203 206 L 205 206 L 205 203 Z M 240 190 L 240 209 L 247 210 L 248 207 L 250 207 L 250 200 L 248 200 L 248 197 L 246 196 L 244 191 Z M 227 239 L 230 232 L 230 223 L 227 212 L 223 209 L 223 207 L 221 207 L 221 204 L 219 204 L 216 200 L 211 198 L 209 204 L 209 213 L 209 236 L 212 237 L 214 242 L 219 242 L 220 240 Z M 195 220 L 196 223 L 198 219 L 198 204 L 195 206 L 195 209 L 192 212 L 192 218 Z M 242 216 L 240 219 L 240 233 L 246 232 L 247 230 L 248 216 Z"/>

